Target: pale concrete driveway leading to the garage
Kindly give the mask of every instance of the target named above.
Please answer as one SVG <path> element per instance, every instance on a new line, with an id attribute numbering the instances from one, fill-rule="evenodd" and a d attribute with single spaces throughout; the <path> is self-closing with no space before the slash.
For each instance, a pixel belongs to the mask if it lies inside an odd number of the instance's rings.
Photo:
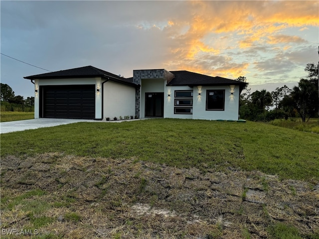
<path id="1" fill-rule="evenodd" d="M 61 124 L 76 122 L 101 122 L 93 119 L 26 119 L 18 121 L 9 121 L 0 123 L 0 133 L 9 133 L 14 131 L 23 131 L 26 129 L 35 129 L 42 127 L 52 127 Z"/>

